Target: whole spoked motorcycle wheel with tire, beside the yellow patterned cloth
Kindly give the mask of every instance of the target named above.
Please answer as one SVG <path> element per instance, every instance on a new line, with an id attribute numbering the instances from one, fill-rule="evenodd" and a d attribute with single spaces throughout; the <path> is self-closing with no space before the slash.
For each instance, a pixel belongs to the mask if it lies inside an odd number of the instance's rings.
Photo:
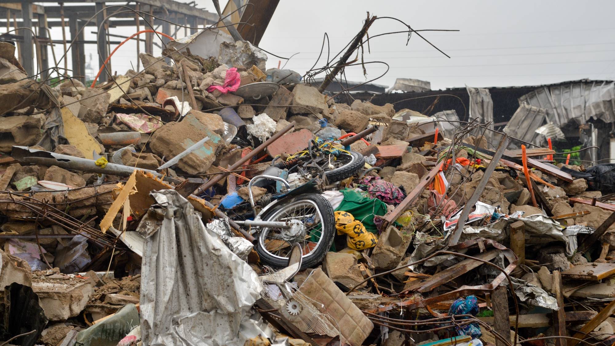
<path id="1" fill-rule="evenodd" d="M 264 221 L 293 222 L 294 228 L 262 228 L 256 252 L 261 261 L 273 268 L 284 268 L 293 245 L 301 244 L 301 269 L 322 262 L 335 236 L 333 207 L 323 196 L 315 193 L 299 195 L 284 205 L 274 207 L 261 218 Z"/>

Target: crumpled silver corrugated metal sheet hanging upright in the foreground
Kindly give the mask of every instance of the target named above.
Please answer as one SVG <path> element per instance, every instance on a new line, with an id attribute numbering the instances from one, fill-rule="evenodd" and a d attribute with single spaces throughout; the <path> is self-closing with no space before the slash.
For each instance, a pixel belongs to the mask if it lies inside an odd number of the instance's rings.
<path id="1" fill-rule="evenodd" d="M 243 345 L 263 291 L 258 275 L 177 191 L 150 195 L 156 204 L 141 222 L 159 227 L 141 233 L 143 345 Z"/>

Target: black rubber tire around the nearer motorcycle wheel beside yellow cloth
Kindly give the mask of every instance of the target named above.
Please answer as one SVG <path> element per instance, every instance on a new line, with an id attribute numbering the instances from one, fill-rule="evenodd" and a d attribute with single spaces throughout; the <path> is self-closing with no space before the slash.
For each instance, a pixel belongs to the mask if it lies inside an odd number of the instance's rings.
<path id="1" fill-rule="evenodd" d="M 301 270 L 306 268 L 312 268 L 316 265 L 319 265 L 320 262 L 325 258 L 325 255 L 329 251 L 331 244 L 333 243 L 333 238 L 335 237 L 335 214 L 333 213 L 333 207 L 323 196 L 317 195 L 315 193 L 306 193 L 304 195 L 298 195 L 293 199 L 288 201 L 283 201 L 279 206 L 272 208 L 270 211 L 267 211 L 266 214 L 263 215 L 261 219 L 265 221 L 276 221 L 277 217 L 284 216 L 283 212 L 296 211 L 298 207 L 301 206 L 309 206 L 317 209 L 320 214 L 320 223 L 322 223 L 322 232 L 317 242 L 317 245 L 312 249 L 312 251 L 306 255 L 303 255 L 303 263 L 301 264 Z M 284 252 L 280 252 L 278 250 L 279 255 L 274 255 L 269 252 L 268 249 L 265 249 L 265 238 L 269 233 L 275 232 L 275 230 L 271 228 L 263 228 L 260 233 L 256 237 L 256 252 L 260 256 L 261 263 L 264 265 L 269 265 L 272 268 L 285 268 L 288 266 L 288 255 L 290 255 L 290 251 L 292 246 L 298 241 L 280 241 L 284 242 L 284 249 L 288 250 L 288 253 L 284 255 Z M 276 239 L 275 237 L 272 237 Z M 304 240 L 302 243 L 311 243 Z M 302 247 L 304 244 L 302 244 Z M 275 249 L 274 249 L 275 250 Z M 305 250 L 304 250 L 305 252 Z"/>

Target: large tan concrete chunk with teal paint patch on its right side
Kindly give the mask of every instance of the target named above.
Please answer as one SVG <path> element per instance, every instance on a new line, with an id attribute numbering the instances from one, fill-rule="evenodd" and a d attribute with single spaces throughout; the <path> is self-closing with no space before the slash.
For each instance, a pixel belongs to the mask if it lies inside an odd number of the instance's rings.
<path id="1" fill-rule="evenodd" d="M 149 147 L 154 153 L 171 159 L 199 140 L 209 137 L 202 148 L 192 151 L 177 163 L 177 167 L 188 174 L 204 173 L 215 161 L 216 150 L 222 142 L 220 135 L 215 132 L 219 131 L 218 124 L 221 122 L 219 115 L 189 113 L 181 122 L 172 121 L 157 129 L 151 137 Z"/>

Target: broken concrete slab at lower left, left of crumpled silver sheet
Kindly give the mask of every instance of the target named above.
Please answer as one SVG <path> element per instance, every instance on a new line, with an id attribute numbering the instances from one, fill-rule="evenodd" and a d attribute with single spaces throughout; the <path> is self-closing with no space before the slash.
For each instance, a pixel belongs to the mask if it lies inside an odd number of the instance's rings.
<path id="1" fill-rule="evenodd" d="M 64 321 L 79 315 L 94 292 L 90 281 L 82 279 L 38 278 L 33 280 L 32 289 L 51 321 Z"/>

